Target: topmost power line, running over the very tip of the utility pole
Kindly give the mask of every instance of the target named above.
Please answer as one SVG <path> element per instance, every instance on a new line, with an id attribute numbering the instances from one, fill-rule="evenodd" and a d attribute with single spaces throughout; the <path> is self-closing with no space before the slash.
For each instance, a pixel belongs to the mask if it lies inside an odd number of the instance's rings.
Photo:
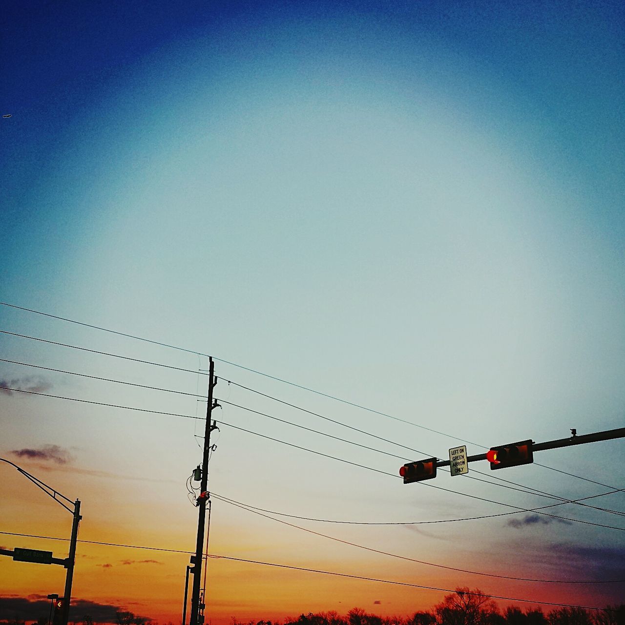
<path id="1" fill-rule="evenodd" d="M 106 328 L 106 327 L 96 326 L 96 325 L 93 325 L 93 324 L 84 323 L 82 321 L 76 321 L 74 319 L 68 319 L 67 317 L 60 317 L 60 316 L 53 315 L 53 314 L 50 314 L 50 313 L 47 313 L 47 312 L 36 311 L 34 309 L 26 308 L 26 307 L 23 307 L 23 306 L 16 306 L 15 304 L 9 304 L 8 302 L 0 302 L 0 304 L 2 306 L 8 306 L 8 307 L 15 308 L 15 309 L 18 309 L 18 310 L 22 310 L 22 311 L 26 311 L 26 312 L 32 312 L 34 314 L 39 314 L 39 315 L 42 315 L 44 317 L 51 317 L 52 319 L 59 319 L 60 321 L 66 321 L 68 323 L 77 324 L 79 326 L 91 327 L 91 328 L 96 329 L 96 330 L 100 330 L 100 331 L 103 331 L 103 332 L 109 332 L 111 334 L 116 334 L 118 336 L 124 336 L 124 337 L 127 337 L 127 338 L 135 339 L 137 341 L 148 342 L 148 343 L 151 343 L 151 344 L 154 344 L 154 345 L 159 345 L 161 347 L 169 347 L 170 349 L 176 349 L 178 351 L 183 351 L 183 352 L 186 352 L 186 353 L 189 353 L 189 354 L 195 354 L 196 356 L 211 357 L 211 354 L 205 354 L 204 352 L 198 352 L 198 351 L 195 351 L 193 349 L 186 349 L 184 347 L 178 347 L 178 346 L 175 346 L 175 345 L 170 345 L 168 343 L 164 343 L 164 342 L 161 342 L 161 341 L 153 341 L 152 339 L 146 339 L 146 338 L 141 337 L 141 336 L 134 336 L 133 334 L 127 334 L 126 332 L 119 332 L 119 331 L 116 331 L 116 330 L 111 330 L 111 329 Z M 301 384 L 296 384 L 296 382 L 290 382 L 288 380 L 282 379 L 281 377 L 271 376 L 270 374 L 264 373 L 262 371 L 257 371 L 256 369 L 251 369 L 250 367 L 246 367 L 246 366 L 243 366 L 241 364 L 237 364 L 236 362 L 227 361 L 227 360 L 224 360 L 222 358 L 218 358 L 216 356 L 212 356 L 212 357 L 213 357 L 214 360 L 219 361 L 219 362 L 223 362 L 224 364 L 229 364 L 229 365 L 237 367 L 239 369 L 243 369 L 244 371 L 249 371 L 249 372 L 255 373 L 255 374 L 259 375 L 259 376 L 267 377 L 267 378 L 273 379 L 273 380 L 275 380 L 277 382 L 282 382 L 283 384 L 288 384 L 289 386 L 293 386 L 293 387 L 302 389 L 304 391 L 312 392 L 312 393 L 317 394 L 317 395 L 322 396 L 322 397 L 327 397 L 328 399 L 332 399 L 334 401 L 341 402 L 341 403 L 346 404 L 348 406 L 353 406 L 353 407 L 356 407 L 358 409 L 361 409 L 361 410 L 364 410 L 364 411 L 367 411 L 367 412 L 371 412 L 372 414 L 377 414 L 379 416 L 384 416 L 384 417 L 387 417 L 389 419 L 393 419 L 394 421 L 399 421 L 399 422 L 405 423 L 405 424 L 410 425 L 412 427 L 419 427 L 421 429 L 425 429 L 427 431 L 434 432 L 435 434 L 439 434 L 441 436 L 451 437 L 451 438 L 454 438 L 454 439 L 462 441 L 462 442 L 466 442 L 466 443 L 469 443 L 469 444 L 472 444 L 472 445 L 476 445 L 477 447 L 482 447 L 482 449 L 487 449 L 487 447 L 484 447 L 484 445 L 480 445 L 480 444 L 478 444 L 476 442 L 468 441 L 467 439 L 463 439 L 463 438 L 456 437 L 456 436 L 452 437 L 451 435 L 446 434 L 445 432 L 439 432 L 439 431 L 437 431 L 435 429 L 432 429 L 432 428 L 429 428 L 429 427 L 426 427 L 426 426 L 422 426 L 421 424 L 417 424 L 417 423 L 414 423 L 412 421 L 406 421 L 405 419 L 400 419 L 399 417 L 392 416 L 391 414 L 387 414 L 386 412 L 377 411 L 377 410 L 374 410 L 374 409 L 369 408 L 367 406 L 362 406 L 361 404 L 356 404 L 355 402 L 347 401 L 346 399 L 341 399 L 341 397 L 336 397 L 336 396 L 324 393 L 322 391 L 316 391 L 315 389 L 312 389 L 311 387 L 303 386 Z M 576 477 L 577 479 L 582 479 L 582 480 L 584 480 L 586 482 L 591 482 L 592 484 L 598 484 L 599 486 L 605 486 L 607 488 L 614 488 L 614 486 L 609 486 L 609 484 L 603 484 L 602 482 L 597 482 L 595 480 L 589 479 L 587 477 L 582 477 L 582 476 L 570 473 L 568 471 L 562 471 L 561 469 L 555 469 L 554 467 L 547 466 L 546 464 L 541 464 L 539 462 L 534 462 L 534 464 L 536 464 L 536 466 L 540 466 L 540 467 L 543 467 L 545 469 L 551 469 L 552 471 L 557 471 L 557 472 L 562 473 L 564 475 L 568 475 L 568 476 L 571 476 L 571 477 Z"/>

